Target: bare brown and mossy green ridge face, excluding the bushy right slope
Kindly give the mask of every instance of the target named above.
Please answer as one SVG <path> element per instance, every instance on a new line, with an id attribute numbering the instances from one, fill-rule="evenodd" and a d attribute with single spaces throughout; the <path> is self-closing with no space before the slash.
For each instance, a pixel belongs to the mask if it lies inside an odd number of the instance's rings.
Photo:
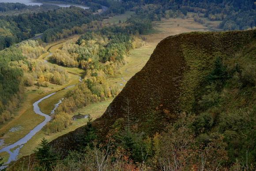
<path id="1" fill-rule="evenodd" d="M 145 67 L 127 82 L 102 117 L 93 122 L 98 134 L 106 135 L 118 118 L 124 118 L 127 99 L 131 112 L 140 123 L 148 117 L 157 118 L 157 115 L 148 113 L 159 106 L 173 114 L 197 113 L 194 107 L 197 95 L 205 76 L 213 69 L 216 57 L 222 56 L 223 60 L 232 58 L 255 40 L 256 30 L 192 32 L 166 37 L 157 45 Z M 161 118 L 158 122 L 165 126 L 169 119 Z M 159 131 L 162 128 L 159 127 Z M 139 129 L 143 130 L 143 127 Z M 80 127 L 50 144 L 59 154 L 66 155 L 69 149 L 75 149 L 83 134 L 86 133 Z"/>

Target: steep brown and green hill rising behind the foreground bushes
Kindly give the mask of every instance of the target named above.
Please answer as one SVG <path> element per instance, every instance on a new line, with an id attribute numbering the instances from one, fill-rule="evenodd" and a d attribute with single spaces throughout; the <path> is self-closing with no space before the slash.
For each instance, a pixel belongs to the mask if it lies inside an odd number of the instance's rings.
<path id="1" fill-rule="evenodd" d="M 93 126 L 102 138 L 129 109 L 138 129 L 152 136 L 175 123 L 180 113 L 190 113 L 197 117 L 191 123 L 196 141 L 223 136 L 232 161 L 248 149 L 255 162 L 255 73 L 256 30 L 166 37 Z M 50 144 L 66 155 L 86 134 L 83 129 Z"/>

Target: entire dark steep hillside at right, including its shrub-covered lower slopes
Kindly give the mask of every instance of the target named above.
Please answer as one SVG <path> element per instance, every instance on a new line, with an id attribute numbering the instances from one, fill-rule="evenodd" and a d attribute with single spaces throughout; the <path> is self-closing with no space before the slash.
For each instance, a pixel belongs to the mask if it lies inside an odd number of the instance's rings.
<path id="1" fill-rule="evenodd" d="M 150 149 L 147 162 L 158 162 L 150 166 L 153 169 L 162 168 L 161 161 L 166 156 L 173 157 L 172 152 L 168 153 L 172 146 L 177 148 L 176 155 L 191 155 L 191 160 L 184 160 L 180 169 L 192 168 L 191 163 L 193 167 L 202 167 L 202 155 L 206 156 L 205 161 L 211 161 L 212 155 L 216 159 L 203 166 L 206 170 L 218 168 L 218 162 L 226 169 L 238 168 L 241 165 L 234 164 L 236 159 L 244 162 L 246 156 L 252 164 L 250 168 L 255 168 L 255 54 L 256 30 L 166 37 L 102 117 L 92 123 L 98 130 L 98 139 L 103 142 L 109 130 L 117 131 L 113 134 L 116 141 L 129 131 L 137 139 L 143 133 L 144 146 L 139 152 Z M 69 150 L 87 141 L 85 137 L 91 136 L 91 131 L 90 126 L 80 127 L 50 145 L 66 156 Z M 148 147 L 148 141 L 154 145 Z M 181 149 L 179 143 L 183 142 L 186 144 Z M 121 144 L 126 144 L 124 139 Z M 131 150 L 132 160 L 144 162 L 135 147 Z"/>

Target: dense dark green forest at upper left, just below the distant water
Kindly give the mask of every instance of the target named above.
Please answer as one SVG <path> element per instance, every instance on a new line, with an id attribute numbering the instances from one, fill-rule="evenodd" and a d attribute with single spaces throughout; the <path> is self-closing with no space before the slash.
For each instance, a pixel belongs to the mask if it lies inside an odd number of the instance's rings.
<path id="1" fill-rule="evenodd" d="M 35 34 L 44 33 L 45 31 L 43 40 L 49 42 L 48 32 L 51 32 L 49 29 L 54 28 L 55 33 L 62 33 L 63 29 L 72 29 L 74 26 L 88 24 L 97 19 L 101 20 L 99 15 L 92 15 L 82 8 L 73 6 L 33 14 L 1 16 L 0 49 L 29 39 L 34 37 Z"/>

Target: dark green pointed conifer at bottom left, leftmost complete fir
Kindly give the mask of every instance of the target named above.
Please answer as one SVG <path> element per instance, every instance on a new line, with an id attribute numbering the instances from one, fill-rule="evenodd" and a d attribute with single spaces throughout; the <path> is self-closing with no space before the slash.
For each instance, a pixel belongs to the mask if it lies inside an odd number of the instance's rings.
<path id="1" fill-rule="evenodd" d="M 39 160 L 41 167 L 45 167 L 46 170 L 50 170 L 51 166 L 57 160 L 57 155 L 53 153 L 52 146 L 48 145 L 47 139 L 43 138 L 40 147 L 37 147 L 35 152 L 35 158 Z"/>

